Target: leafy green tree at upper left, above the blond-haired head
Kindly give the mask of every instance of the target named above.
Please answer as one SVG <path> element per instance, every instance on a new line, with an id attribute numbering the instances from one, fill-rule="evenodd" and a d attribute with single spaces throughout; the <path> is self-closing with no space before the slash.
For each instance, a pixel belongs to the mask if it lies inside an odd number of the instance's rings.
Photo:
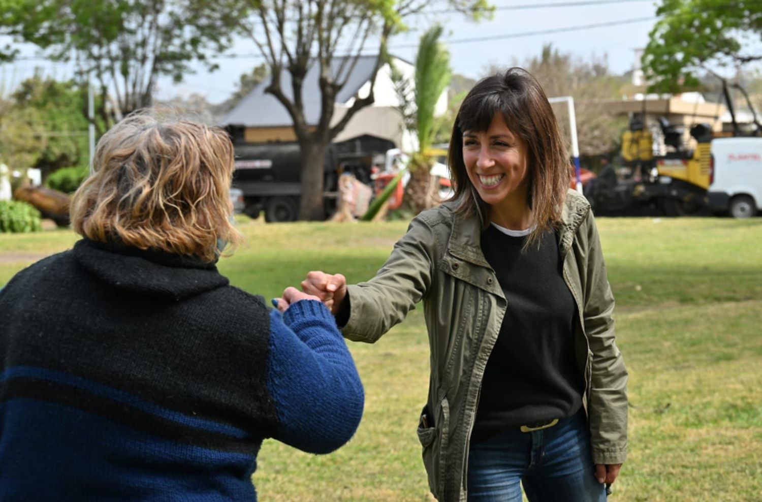
<path id="1" fill-rule="evenodd" d="M 159 75 L 175 82 L 230 42 L 229 17 L 211 0 L 0 0 L 0 33 L 34 43 L 51 59 L 73 60 L 98 82 L 106 126 L 152 104 Z M 5 56 L 12 56 L 5 51 Z M 100 132 L 103 132 L 102 130 Z"/>

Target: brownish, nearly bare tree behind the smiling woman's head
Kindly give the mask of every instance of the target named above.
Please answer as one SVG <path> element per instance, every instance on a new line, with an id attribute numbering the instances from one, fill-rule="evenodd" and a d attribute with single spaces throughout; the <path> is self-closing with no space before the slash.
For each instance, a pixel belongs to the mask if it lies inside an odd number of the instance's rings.
<path id="1" fill-rule="evenodd" d="M 605 57 L 585 62 L 547 44 L 539 56 L 524 62 L 523 68 L 537 78 L 549 98 L 574 98 L 581 155 L 602 155 L 620 141 L 626 123 L 607 114 L 602 100 L 616 98 L 621 82 L 611 75 Z M 568 122 L 564 117 L 559 114 L 559 126 L 566 131 Z M 568 131 L 565 137 L 569 137 Z"/>

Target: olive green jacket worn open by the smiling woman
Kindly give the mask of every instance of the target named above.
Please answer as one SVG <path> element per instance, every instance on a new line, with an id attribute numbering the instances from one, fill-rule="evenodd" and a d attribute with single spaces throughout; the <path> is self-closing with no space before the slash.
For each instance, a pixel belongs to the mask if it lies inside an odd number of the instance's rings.
<path id="1" fill-rule="evenodd" d="M 479 245 L 479 220 L 444 203 L 412 220 L 376 277 L 347 287 L 342 331 L 373 343 L 421 300 L 431 346 L 426 425 L 419 424 L 429 486 L 439 500 L 466 500 L 469 439 L 482 376 L 506 310 Z M 575 352 L 586 382 L 594 463 L 624 462 L 627 372 L 614 343 L 614 299 L 588 201 L 569 190 L 559 225 L 564 280 L 579 319 Z"/>

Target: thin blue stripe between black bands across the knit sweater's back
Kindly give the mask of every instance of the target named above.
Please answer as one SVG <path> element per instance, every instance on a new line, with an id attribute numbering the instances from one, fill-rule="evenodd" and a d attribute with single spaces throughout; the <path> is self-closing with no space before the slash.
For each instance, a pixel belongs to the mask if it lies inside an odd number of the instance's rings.
<path id="1" fill-rule="evenodd" d="M 186 427 L 195 427 L 197 429 L 208 430 L 214 433 L 223 433 L 236 438 L 245 438 L 248 436 L 248 433 L 246 433 L 245 430 L 239 429 L 238 427 L 233 427 L 229 424 L 213 422 L 211 420 L 204 420 L 203 418 L 199 417 L 192 417 L 187 414 L 180 413 L 179 411 L 163 408 L 157 404 L 144 401 L 134 395 L 120 391 L 117 388 L 102 385 L 97 382 L 92 382 L 91 380 L 82 378 L 81 376 L 69 375 L 66 373 L 53 371 L 52 369 L 40 368 L 36 366 L 12 366 L 0 373 L 0 384 L 6 380 L 17 378 L 43 379 L 49 380 L 51 382 L 62 383 L 65 385 L 72 385 L 77 388 L 82 388 L 83 390 L 90 392 L 93 395 L 109 398 L 114 401 L 119 401 L 123 404 L 128 404 L 133 408 L 139 409 L 140 411 L 154 414 L 157 417 L 161 417 L 165 420 L 171 420 Z"/>

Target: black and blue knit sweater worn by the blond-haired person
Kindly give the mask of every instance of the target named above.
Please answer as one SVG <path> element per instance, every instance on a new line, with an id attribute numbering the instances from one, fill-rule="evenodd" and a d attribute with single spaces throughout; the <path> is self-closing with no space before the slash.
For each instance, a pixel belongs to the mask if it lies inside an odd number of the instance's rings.
<path id="1" fill-rule="evenodd" d="M 262 440 L 325 453 L 363 388 L 315 301 L 92 241 L 0 290 L 0 500 L 256 500 Z"/>

